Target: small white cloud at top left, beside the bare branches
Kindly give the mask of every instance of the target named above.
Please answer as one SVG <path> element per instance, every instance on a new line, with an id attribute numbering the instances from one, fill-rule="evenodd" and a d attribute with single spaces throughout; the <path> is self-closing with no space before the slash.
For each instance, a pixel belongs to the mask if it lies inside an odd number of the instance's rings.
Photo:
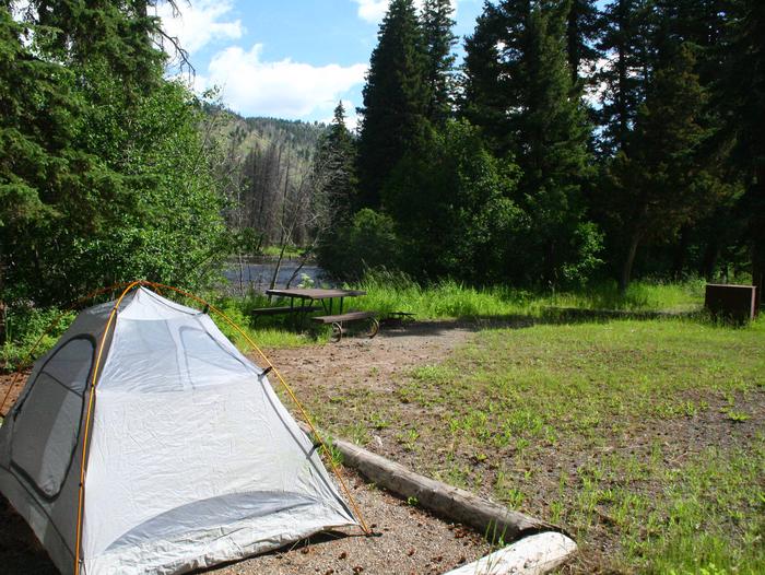
<path id="1" fill-rule="evenodd" d="M 195 0 L 179 3 L 180 12 L 173 13 L 169 2 L 156 9 L 162 28 L 168 36 L 180 40 L 180 46 L 193 54 L 214 40 L 240 38 L 245 30 L 240 20 L 231 20 L 232 0 Z"/>

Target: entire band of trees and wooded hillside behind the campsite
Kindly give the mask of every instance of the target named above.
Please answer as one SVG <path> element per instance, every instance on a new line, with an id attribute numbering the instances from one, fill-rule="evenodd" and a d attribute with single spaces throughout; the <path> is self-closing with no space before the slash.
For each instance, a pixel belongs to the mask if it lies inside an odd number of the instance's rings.
<path id="1" fill-rule="evenodd" d="M 762 2 L 486 1 L 458 38 L 392 0 L 354 132 L 195 94 L 155 3 L 0 5 L 0 308 L 268 245 L 351 281 L 762 283 Z"/>

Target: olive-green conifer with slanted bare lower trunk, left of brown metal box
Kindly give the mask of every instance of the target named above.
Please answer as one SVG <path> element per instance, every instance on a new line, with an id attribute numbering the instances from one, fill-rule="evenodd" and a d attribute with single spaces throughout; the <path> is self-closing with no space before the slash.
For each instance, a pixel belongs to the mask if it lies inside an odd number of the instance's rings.
<path id="1" fill-rule="evenodd" d="M 675 237 L 683 225 L 708 213 L 725 192 L 699 161 L 709 131 L 701 124 L 707 96 L 695 73 L 693 52 L 684 44 L 660 46 L 629 153 L 620 152 L 609 168 L 613 227 L 623 234 L 622 290 L 629 284 L 642 244 Z"/>

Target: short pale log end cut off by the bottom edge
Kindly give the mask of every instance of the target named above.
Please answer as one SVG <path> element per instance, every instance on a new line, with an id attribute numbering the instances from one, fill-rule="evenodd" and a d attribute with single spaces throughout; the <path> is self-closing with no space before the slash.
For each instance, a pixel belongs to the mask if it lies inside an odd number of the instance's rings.
<path id="1" fill-rule="evenodd" d="M 563 533 L 546 531 L 525 537 L 445 575 L 544 575 L 565 563 L 576 543 Z"/>

